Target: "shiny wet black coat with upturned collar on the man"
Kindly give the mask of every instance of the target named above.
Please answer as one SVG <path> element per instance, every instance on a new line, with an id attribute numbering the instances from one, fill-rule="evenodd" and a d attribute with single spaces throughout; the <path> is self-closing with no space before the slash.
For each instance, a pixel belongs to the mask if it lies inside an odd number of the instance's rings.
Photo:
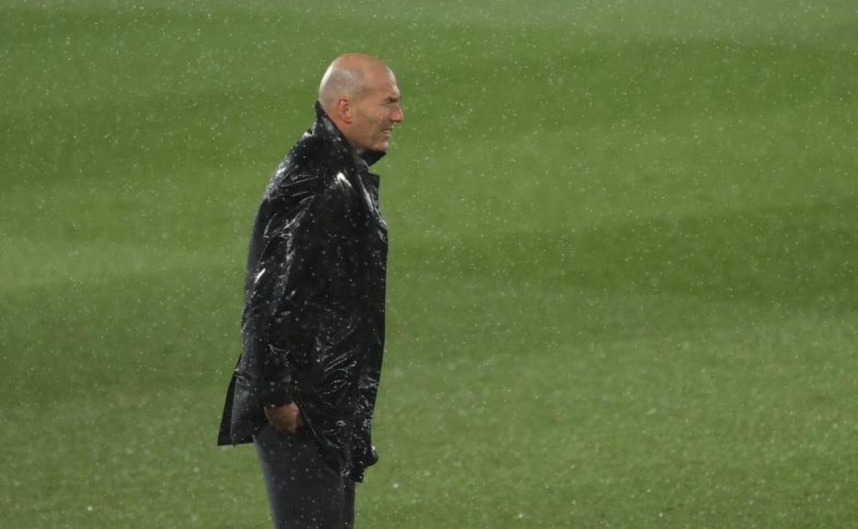
<path id="1" fill-rule="evenodd" d="M 360 481 L 378 460 L 372 410 L 384 347 L 383 153 L 359 157 L 316 104 L 316 122 L 275 171 L 251 234 L 242 354 L 219 444 L 252 442 L 264 406 L 294 402 L 323 460 Z"/>

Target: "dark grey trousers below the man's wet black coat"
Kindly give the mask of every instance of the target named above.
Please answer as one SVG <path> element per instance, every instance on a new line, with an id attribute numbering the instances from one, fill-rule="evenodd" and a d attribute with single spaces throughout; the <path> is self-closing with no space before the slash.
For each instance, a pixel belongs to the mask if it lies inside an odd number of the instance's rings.
<path id="1" fill-rule="evenodd" d="M 327 466 L 307 431 L 265 424 L 253 438 L 275 529 L 352 529 L 354 482 Z"/>

